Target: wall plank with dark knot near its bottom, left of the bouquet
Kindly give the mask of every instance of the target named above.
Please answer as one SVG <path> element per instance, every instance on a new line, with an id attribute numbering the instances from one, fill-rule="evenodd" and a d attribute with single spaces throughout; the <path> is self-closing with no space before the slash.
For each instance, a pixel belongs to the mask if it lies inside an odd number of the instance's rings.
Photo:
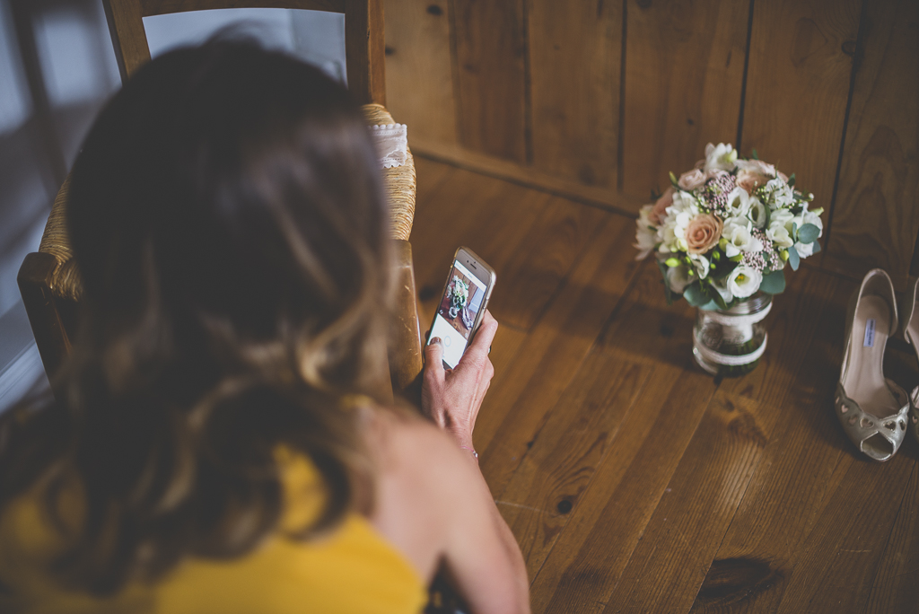
<path id="1" fill-rule="evenodd" d="M 527 4 L 533 166 L 616 189 L 621 6 Z"/>

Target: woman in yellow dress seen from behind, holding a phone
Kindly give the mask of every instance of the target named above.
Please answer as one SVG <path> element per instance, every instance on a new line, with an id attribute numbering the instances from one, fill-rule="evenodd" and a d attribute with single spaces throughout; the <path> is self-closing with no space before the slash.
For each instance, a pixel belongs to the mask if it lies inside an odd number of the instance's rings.
<path id="1" fill-rule="evenodd" d="M 144 66 L 72 173 L 62 398 L 0 425 L 0 610 L 417 612 L 437 569 L 528 611 L 471 449 L 497 324 L 424 410 L 373 399 L 388 211 L 360 109 L 217 40 Z M 433 424 L 432 424 L 433 422 Z"/>

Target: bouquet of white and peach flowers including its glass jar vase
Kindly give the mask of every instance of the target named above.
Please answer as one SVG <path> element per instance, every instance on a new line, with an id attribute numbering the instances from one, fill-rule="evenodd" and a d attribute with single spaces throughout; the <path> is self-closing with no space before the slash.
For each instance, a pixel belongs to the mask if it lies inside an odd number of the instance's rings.
<path id="1" fill-rule="evenodd" d="M 664 275 L 667 301 L 683 295 L 698 308 L 693 353 L 711 373 L 753 370 L 766 349 L 758 323 L 771 295 L 785 290 L 786 265 L 820 251 L 820 214 L 795 176 L 742 159 L 730 144 L 709 143 L 705 160 L 641 208 L 636 247 L 652 252 Z"/>

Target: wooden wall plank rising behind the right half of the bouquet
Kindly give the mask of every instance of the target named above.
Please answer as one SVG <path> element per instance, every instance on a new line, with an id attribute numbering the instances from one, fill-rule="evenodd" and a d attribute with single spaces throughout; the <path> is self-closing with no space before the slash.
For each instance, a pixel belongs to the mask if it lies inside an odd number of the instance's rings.
<path id="1" fill-rule="evenodd" d="M 829 210 L 861 0 L 754 3 L 743 154 L 756 149 Z M 848 53 L 846 52 L 848 51 Z M 827 213 L 823 214 L 826 222 Z"/>

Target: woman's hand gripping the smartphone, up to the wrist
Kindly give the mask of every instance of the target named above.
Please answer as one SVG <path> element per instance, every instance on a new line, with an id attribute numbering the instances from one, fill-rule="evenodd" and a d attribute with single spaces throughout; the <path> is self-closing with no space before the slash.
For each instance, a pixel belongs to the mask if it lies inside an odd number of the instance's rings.
<path id="1" fill-rule="evenodd" d="M 494 366 L 488 352 L 497 330 L 497 320 L 485 310 L 471 346 L 453 370 L 444 370 L 444 350 L 439 338 L 435 337 L 425 347 L 421 407 L 463 448 L 472 449 L 472 429 L 492 382 Z"/>

